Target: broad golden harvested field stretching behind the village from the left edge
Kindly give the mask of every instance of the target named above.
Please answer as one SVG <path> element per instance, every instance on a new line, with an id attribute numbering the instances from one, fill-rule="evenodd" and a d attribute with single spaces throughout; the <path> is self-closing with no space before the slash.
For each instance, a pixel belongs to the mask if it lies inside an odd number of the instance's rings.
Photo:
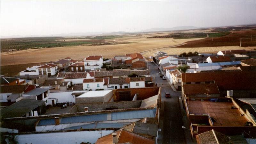
<path id="1" fill-rule="evenodd" d="M 184 42 L 197 39 L 180 39 L 174 40 L 172 38 L 163 39 L 147 39 L 147 38 L 134 38 L 125 37 L 118 39 L 121 42 L 131 42 L 127 44 L 117 45 L 102 45 L 102 46 L 76 46 L 76 47 L 53 47 L 41 49 L 28 49 L 18 52 L 1 54 L 1 66 L 45 61 L 58 61 L 65 57 L 81 60 L 89 55 L 102 55 L 105 58 L 112 58 L 115 55 L 139 53 L 141 51 L 158 49 L 164 47 L 177 46 Z M 14 58 L 14 61 L 13 61 Z"/>

